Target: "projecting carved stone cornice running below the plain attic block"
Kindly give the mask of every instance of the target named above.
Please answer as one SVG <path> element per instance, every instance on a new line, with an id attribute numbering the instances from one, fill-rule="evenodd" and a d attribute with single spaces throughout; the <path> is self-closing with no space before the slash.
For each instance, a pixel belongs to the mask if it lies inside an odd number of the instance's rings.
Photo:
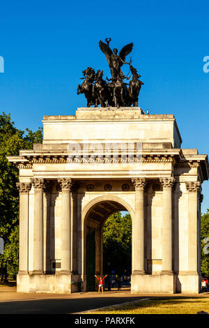
<path id="1" fill-rule="evenodd" d="M 139 152 L 139 151 L 138 151 Z M 172 163 L 173 167 L 188 167 L 199 169 L 201 180 L 208 180 L 209 165 L 207 155 L 183 156 L 182 149 L 143 149 L 141 154 L 136 154 L 133 149 L 129 154 L 77 154 L 75 151 L 21 151 L 22 156 L 8 156 L 8 161 L 19 169 L 33 169 L 33 164 L 47 163 Z"/>

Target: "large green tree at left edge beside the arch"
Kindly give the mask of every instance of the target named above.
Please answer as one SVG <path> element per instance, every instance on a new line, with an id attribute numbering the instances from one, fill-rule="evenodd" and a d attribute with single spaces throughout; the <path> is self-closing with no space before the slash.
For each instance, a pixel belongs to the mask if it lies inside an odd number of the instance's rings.
<path id="1" fill-rule="evenodd" d="M 18 156 L 20 149 L 33 149 L 33 143 L 42 142 L 42 128 L 33 132 L 15 128 L 10 114 L 0 114 L 0 237 L 5 251 L 0 255 L 1 280 L 18 268 L 19 194 L 16 187 L 18 170 L 6 156 Z"/>

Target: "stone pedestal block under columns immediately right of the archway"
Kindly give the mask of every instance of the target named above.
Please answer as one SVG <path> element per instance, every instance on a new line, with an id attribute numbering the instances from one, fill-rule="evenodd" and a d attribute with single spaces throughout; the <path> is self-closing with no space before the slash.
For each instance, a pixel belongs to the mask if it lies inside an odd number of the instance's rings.
<path id="1" fill-rule="evenodd" d="M 131 292 L 162 292 L 173 294 L 176 292 L 176 280 L 173 274 L 132 274 Z"/>

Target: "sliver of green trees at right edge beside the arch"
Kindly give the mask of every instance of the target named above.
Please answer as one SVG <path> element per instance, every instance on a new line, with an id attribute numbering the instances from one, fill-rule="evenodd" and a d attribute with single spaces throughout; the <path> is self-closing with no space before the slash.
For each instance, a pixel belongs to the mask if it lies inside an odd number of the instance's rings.
<path id="1" fill-rule="evenodd" d="M 209 276 L 209 209 L 206 214 L 201 215 L 201 273 Z"/>

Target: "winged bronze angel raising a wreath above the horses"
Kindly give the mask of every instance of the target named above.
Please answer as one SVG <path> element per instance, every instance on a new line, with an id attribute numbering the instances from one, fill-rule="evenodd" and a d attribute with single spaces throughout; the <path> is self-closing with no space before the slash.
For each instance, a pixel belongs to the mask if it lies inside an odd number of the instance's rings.
<path id="1" fill-rule="evenodd" d="M 106 38 L 105 41 L 107 42 L 104 43 L 100 40 L 100 49 L 102 50 L 102 52 L 104 52 L 104 54 L 106 55 L 106 59 L 107 62 L 109 64 L 109 68 L 111 71 L 111 77 L 112 79 L 116 79 L 118 77 L 118 75 L 121 77 L 121 79 L 124 79 L 125 76 L 123 75 L 123 72 L 121 70 L 121 66 L 123 64 L 127 64 L 130 65 L 130 63 L 126 63 L 125 61 L 125 57 L 130 54 L 130 52 L 132 51 L 133 48 L 133 43 L 129 43 L 128 45 L 125 45 L 125 47 L 123 47 L 121 49 L 121 51 L 119 52 L 118 55 L 118 50 L 116 48 L 114 48 L 113 52 L 111 51 L 111 48 L 109 47 L 109 43 L 111 41 L 111 38 Z"/>

